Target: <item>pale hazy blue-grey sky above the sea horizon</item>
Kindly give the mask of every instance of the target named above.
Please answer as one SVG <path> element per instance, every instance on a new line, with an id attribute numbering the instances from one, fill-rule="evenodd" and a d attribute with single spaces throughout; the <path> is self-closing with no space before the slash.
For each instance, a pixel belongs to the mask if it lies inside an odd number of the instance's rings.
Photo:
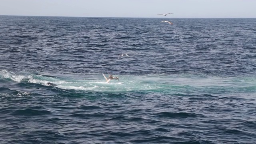
<path id="1" fill-rule="evenodd" d="M 256 18 L 256 0 L 0 0 L 0 15 Z"/>

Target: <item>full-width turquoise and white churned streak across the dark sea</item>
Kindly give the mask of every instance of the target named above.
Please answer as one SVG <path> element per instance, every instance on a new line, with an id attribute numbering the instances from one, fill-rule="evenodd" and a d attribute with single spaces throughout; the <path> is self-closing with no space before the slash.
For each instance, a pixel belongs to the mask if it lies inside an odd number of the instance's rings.
<path id="1" fill-rule="evenodd" d="M 92 92 L 123 93 L 131 91 L 173 93 L 216 94 L 226 92 L 256 92 L 256 78 L 249 77 L 217 77 L 206 75 L 118 75 L 120 80 L 106 83 L 102 74 L 39 74 L 31 72 L 14 73 L 0 70 L 0 79 L 49 86 L 65 90 L 84 90 Z M 132 78 L 132 79 L 131 79 Z M 52 86 L 51 86 L 52 87 Z"/>

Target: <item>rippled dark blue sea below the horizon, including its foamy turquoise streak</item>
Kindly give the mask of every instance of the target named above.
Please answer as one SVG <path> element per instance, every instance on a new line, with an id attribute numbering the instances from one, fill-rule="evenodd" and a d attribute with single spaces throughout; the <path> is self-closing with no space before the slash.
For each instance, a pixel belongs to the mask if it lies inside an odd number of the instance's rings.
<path id="1" fill-rule="evenodd" d="M 1 144 L 256 143 L 256 18 L 0 16 L 0 54 Z"/>

